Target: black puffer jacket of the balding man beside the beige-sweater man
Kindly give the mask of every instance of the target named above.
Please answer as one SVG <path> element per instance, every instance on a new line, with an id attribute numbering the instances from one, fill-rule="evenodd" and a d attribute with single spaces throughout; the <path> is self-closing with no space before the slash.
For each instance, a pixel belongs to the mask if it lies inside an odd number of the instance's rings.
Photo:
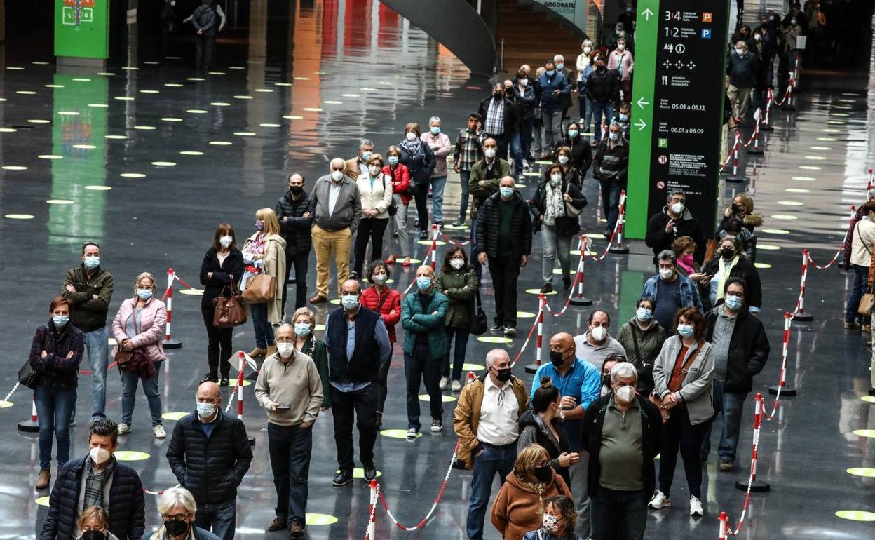
<path id="1" fill-rule="evenodd" d="M 191 491 L 198 504 L 219 504 L 237 496 L 237 486 L 249 470 L 252 448 L 242 420 L 219 410 L 210 437 L 197 411 L 173 428 L 167 461 L 179 484 Z"/>

